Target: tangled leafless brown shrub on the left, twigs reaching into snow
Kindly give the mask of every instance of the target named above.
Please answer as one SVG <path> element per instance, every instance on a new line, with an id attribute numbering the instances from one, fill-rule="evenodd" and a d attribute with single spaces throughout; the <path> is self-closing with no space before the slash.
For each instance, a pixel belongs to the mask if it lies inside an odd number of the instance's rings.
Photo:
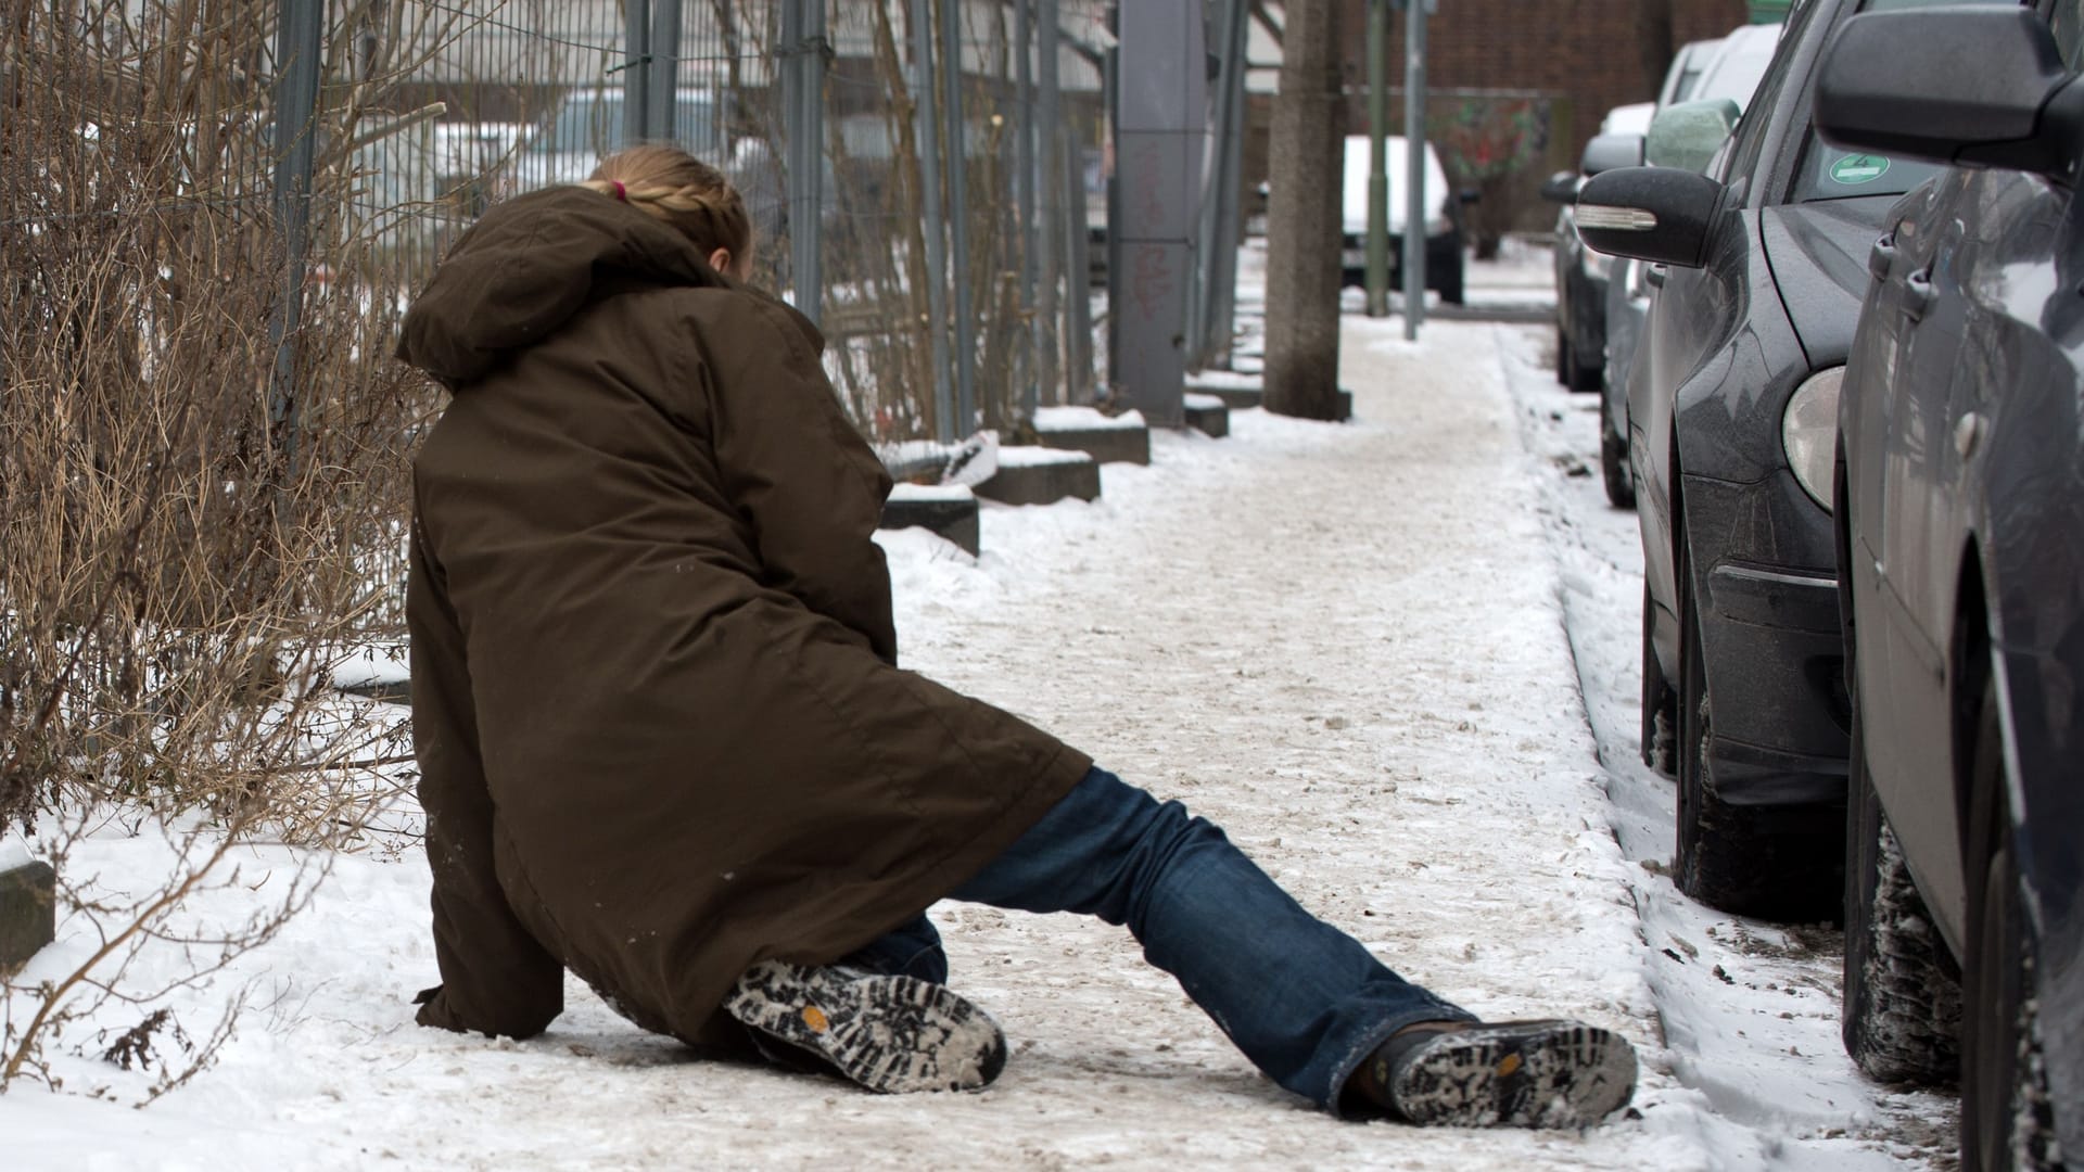
<path id="1" fill-rule="evenodd" d="M 0 991 L 0 1089 L 46 1070 L 67 1022 L 113 1030 L 113 1061 L 156 1064 L 152 1095 L 200 1070 L 240 997 L 200 1032 L 154 1024 L 156 1001 L 267 943 L 325 849 L 396 797 L 354 767 L 396 747 L 365 742 L 327 667 L 396 613 L 386 567 L 433 402 L 390 359 L 396 248 L 354 163 L 369 77 L 329 88 L 306 127 L 315 265 L 292 288 L 273 15 L 50 0 L 0 19 L 0 824 L 38 834 L 96 941 Z M 65 874 L 108 820 L 177 845 L 150 890 Z M 250 918 L 185 922 L 256 838 L 317 851 Z M 154 947 L 183 963 L 140 976 Z M 110 1026 L 110 1005 L 138 1024 Z"/>

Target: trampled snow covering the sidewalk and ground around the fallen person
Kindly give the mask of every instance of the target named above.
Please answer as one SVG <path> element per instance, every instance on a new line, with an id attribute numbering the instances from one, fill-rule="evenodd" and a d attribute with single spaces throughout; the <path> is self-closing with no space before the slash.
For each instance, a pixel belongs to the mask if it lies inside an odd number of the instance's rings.
<path id="1" fill-rule="evenodd" d="M 1500 288 L 1546 265 L 1509 261 Z M 419 1030 L 436 972 L 406 811 L 210 986 L 56 1039 L 63 1093 L 0 1097 L 0 1168 L 1951 1166 L 1953 1103 L 1876 1089 L 1838 1049 L 1834 932 L 1715 915 L 1663 876 L 1671 786 L 1634 751 L 1634 517 L 1601 496 L 1594 402 L 1548 380 L 1546 338 L 1442 321 L 1407 344 L 1398 319 L 1348 315 L 1350 423 L 1240 411 L 1225 440 L 1155 434 L 1096 503 L 986 505 L 982 559 L 882 540 L 907 665 L 1186 801 L 1442 995 L 1623 1030 L 1644 1059 L 1626 1116 L 1338 1122 L 1261 1078 L 1125 932 L 952 903 L 934 913 L 954 982 L 1015 1051 L 979 1095 L 694 1061 L 575 982 L 529 1043 Z M 171 849 L 110 826 L 67 880 L 119 893 Z M 190 915 L 271 907 L 306 861 L 242 851 Z M 73 915 L 19 982 L 94 947 Z M 154 945 L 133 976 L 181 963 Z M 110 1039 L 165 1005 L 200 1041 L 242 988 L 217 1066 L 129 1109 L 152 1072 L 102 1061 Z"/>

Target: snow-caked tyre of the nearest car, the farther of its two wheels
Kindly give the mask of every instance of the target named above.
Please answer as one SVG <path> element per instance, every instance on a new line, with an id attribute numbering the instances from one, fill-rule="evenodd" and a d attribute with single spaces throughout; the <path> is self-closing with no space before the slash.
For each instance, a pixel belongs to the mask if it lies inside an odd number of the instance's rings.
<path id="1" fill-rule="evenodd" d="M 1859 707 L 1846 790 L 1844 1051 L 1882 1082 L 1946 1082 L 1961 1070 L 1961 976 L 1874 792 Z"/>

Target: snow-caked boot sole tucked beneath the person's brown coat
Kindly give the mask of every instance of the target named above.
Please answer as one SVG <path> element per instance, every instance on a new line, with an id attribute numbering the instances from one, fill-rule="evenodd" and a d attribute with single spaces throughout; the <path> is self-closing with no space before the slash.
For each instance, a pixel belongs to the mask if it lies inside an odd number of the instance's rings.
<path id="1" fill-rule="evenodd" d="M 738 978 L 723 1009 L 886 1095 L 982 1091 L 1007 1066 L 998 1022 L 915 976 L 761 961 Z"/>

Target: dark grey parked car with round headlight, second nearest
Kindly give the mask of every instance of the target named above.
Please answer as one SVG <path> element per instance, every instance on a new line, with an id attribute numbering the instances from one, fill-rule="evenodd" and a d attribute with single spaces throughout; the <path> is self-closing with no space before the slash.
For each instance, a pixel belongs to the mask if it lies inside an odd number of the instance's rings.
<path id="1" fill-rule="evenodd" d="M 1903 2 L 1796 8 L 1707 173 L 1623 167 L 1578 194 L 1590 246 L 1667 265 L 1628 382 L 1642 749 L 1678 774 L 1680 888 L 1728 911 L 1830 915 L 1842 884 L 1851 709 L 1830 407 L 1865 292 L 1855 257 L 1932 167 L 1819 171 L 1809 108 L 1830 33 Z M 1709 142 L 1684 138 L 1728 136 L 1730 106 L 1659 111 L 1651 152 L 1698 167 Z"/>

